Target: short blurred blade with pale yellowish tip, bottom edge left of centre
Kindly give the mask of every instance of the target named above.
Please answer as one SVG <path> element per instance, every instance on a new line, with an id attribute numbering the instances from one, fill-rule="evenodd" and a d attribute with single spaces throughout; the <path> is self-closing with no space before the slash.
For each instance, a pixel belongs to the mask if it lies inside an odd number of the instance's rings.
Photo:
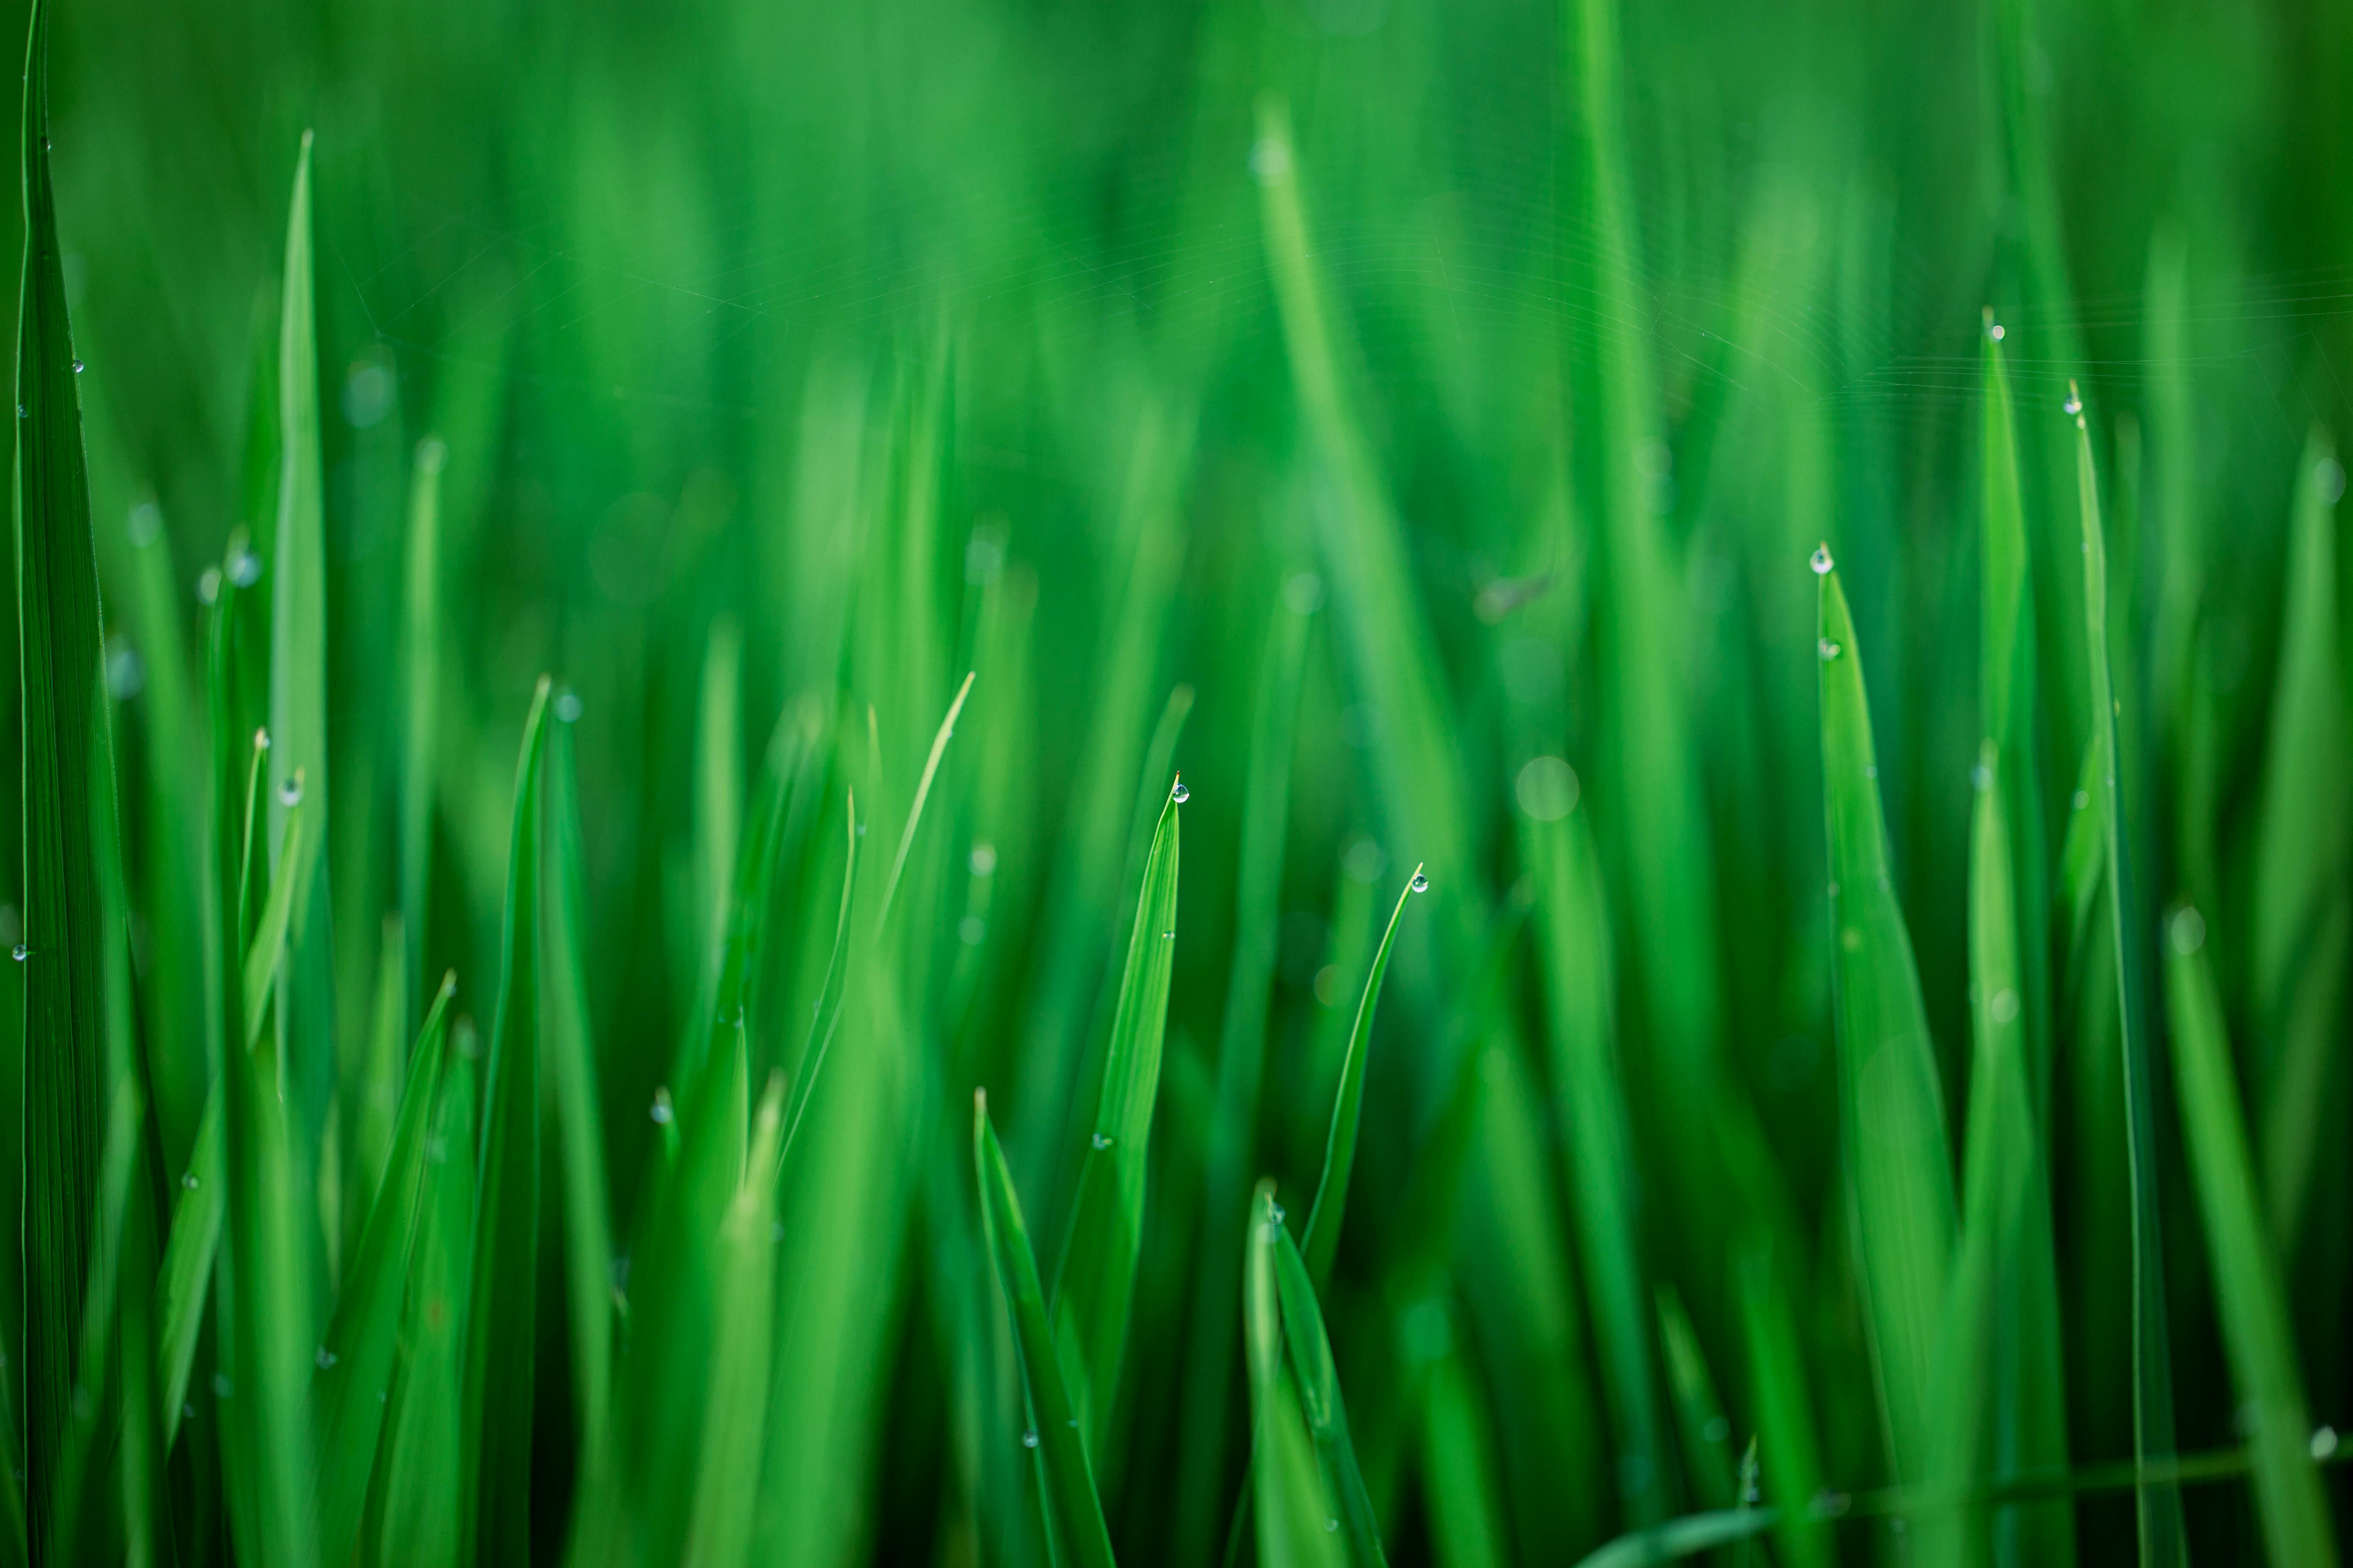
<path id="1" fill-rule="evenodd" d="M 687 1526 L 685 1563 L 744 1561 L 760 1479 L 760 1427 L 767 1418 L 769 1326 L 776 1295 L 776 1154 L 784 1147 L 784 1074 L 760 1095 L 744 1180 L 720 1229 L 718 1321 L 711 1394 L 704 1406 L 701 1467 Z"/>

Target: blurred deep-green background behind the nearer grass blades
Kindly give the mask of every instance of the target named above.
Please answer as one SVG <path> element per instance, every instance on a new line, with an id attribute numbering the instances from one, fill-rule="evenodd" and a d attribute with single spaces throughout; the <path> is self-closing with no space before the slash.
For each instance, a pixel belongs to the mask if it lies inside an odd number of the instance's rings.
<path id="1" fill-rule="evenodd" d="M 1828 541 L 1854 602 L 1958 1150 L 1981 308 L 2019 407 L 2052 867 L 2092 726 L 2059 414 L 2080 378 L 2146 929 L 2181 893 L 2207 910 L 2259 1100 L 2259 1041 L 2287 1027 L 2247 957 L 2266 835 L 2308 849 L 2315 907 L 2346 896 L 2341 766 L 2315 816 L 2264 806 L 2299 454 L 2353 414 L 2341 5 L 82 0 L 56 12 L 52 73 L 99 571 L 136 658 L 118 696 L 141 987 L 165 994 L 169 961 L 141 891 L 162 886 L 134 804 L 158 745 L 141 691 L 200 670 L 198 574 L 254 522 L 304 129 L 346 1079 L 414 837 L 402 562 L 426 437 L 447 454 L 438 750 L 407 1004 L 454 966 L 456 1006 L 489 1016 L 513 748 L 555 672 L 581 701 L 624 1253 L 779 715 L 826 715 L 838 776 L 882 762 L 889 846 L 976 672 L 918 936 L 882 980 L 896 1023 L 828 1067 L 784 1201 L 798 1371 L 758 1561 L 1040 1549 L 974 1274 L 965 1105 L 988 1086 L 1052 1255 L 1169 766 L 1193 790 L 1184 924 L 1120 1436 L 1096 1460 L 1122 1561 L 1224 1552 L 1238 1204 L 1271 1173 L 1304 1208 L 1377 922 L 1417 860 L 1435 898 L 1400 936 L 1325 1300 L 1391 1554 L 1569 1561 L 1661 1500 L 1697 1507 L 1769 1420 L 1777 1366 L 1802 1375 L 1814 1486 L 1892 1479 L 1838 1154 L 1805 559 Z M 153 548 L 167 595 L 134 588 Z M 1242 802 L 1285 646 L 1304 665 L 1252 1114 L 1221 1063 L 1257 1027 L 1231 1016 L 1252 1011 Z M 2341 733 L 2339 715 L 2339 764 Z M 1631 1373 L 1574 1218 L 1591 1171 L 1546 1044 L 1558 950 L 1513 924 L 1551 853 L 1537 827 L 1569 804 L 1607 889 L 1574 950 L 1631 1110 Z M 755 1065 L 798 1060 L 824 987 L 828 823 L 786 867 Z M 2341 971 L 2344 940 L 2327 926 L 2299 961 Z M 2322 1006 L 2334 1128 L 2341 987 Z M 2113 1020 L 2061 987 L 2052 1030 L 2068 1432 L 2075 1460 L 2129 1458 Z M 174 1088 L 155 1093 L 169 1126 Z M 1461 1093 L 1468 1152 L 1433 1152 Z M 1231 1192 L 1221 1128 L 1245 1154 Z M 2181 1441 L 2231 1443 L 2169 1107 L 2160 1147 Z M 2346 1420 L 2339 1143 L 2311 1190 L 2280 1258 L 2311 1413 Z M 1682 1349 L 1725 1403 L 1722 1429 L 1675 1427 L 1689 1450 L 1664 1415 L 1697 1387 Z M 565 1465 L 541 1465 L 551 1502 Z M 1767 1460 L 1767 1490 L 1786 1472 Z M 2257 1540 L 2238 1486 L 2188 1507 L 2200 1552 Z M 2129 1500 L 2075 1514 L 2087 1561 L 2129 1540 Z M 1885 1526 L 1838 1540 L 1871 1554 Z"/>

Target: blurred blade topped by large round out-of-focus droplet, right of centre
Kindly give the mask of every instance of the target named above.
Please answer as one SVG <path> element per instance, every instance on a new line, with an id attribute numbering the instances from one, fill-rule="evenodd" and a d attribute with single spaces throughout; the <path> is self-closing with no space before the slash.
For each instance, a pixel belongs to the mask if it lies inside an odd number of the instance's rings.
<path id="1" fill-rule="evenodd" d="M 1593 1302 L 1602 1387 L 1609 1392 L 1619 1441 L 1621 1490 L 1638 1519 L 1657 1519 L 1666 1512 L 1671 1467 L 1652 1371 L 1642 1255 L 1635 1244 L 1633 1135 L 1617 1072 L 1609 905 L 1586 813 L 1572 795 L 1577 788 L 1572 778 L 1562 778 L 1551 792 L 1522 790 L 1522 809 L 1534 806 L 1551 816 L 1546 820 L 1525 811 L 1520 853 L 1537 884 L 1553 1093 L 1560 1095 L 1569 1204 L 1577 1215 L 1586 1295 Z"/>

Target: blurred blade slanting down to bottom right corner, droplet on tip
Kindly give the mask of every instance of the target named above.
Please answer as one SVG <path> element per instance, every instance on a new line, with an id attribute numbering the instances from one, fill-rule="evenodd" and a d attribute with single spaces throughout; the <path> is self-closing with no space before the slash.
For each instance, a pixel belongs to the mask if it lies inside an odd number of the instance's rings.
<path id="1" fill-rule="evenodd" d="M 2165 999 L 2174 1025 L 2174 1084 L 2198 1208 L 2205 1215 L 2240 1427 L 2254 1450 L 2254 1502 L 2275 1563 L 2334 1563 L 2337 1530 L 2313 1458 L 2297 1373 L 2287 1288 L 2264 1215 L 2221 994 L 2205 954 L 2207 924 L 2181 905 L 2165 922 Z M 2252 1418 L 2252 1420 L 2249 1420 Z"/>

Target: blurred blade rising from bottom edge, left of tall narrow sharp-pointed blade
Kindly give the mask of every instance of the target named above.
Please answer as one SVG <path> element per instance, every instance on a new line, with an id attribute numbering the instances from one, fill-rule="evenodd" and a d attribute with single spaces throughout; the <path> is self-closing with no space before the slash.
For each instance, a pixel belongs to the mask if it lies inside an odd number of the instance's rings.
<path id="1" fill-rule="evenodd" d="M 466 1272 L 473 1255 L 475 1048 L 454 1030 L 433 1133 L 424 1213 L 400 1316 L 400 1363 L 384 1415 L 384 1460 L 367 1497 L 360 1561 L 456 1568 L 461 1561 L 461 1410 Z"/>

